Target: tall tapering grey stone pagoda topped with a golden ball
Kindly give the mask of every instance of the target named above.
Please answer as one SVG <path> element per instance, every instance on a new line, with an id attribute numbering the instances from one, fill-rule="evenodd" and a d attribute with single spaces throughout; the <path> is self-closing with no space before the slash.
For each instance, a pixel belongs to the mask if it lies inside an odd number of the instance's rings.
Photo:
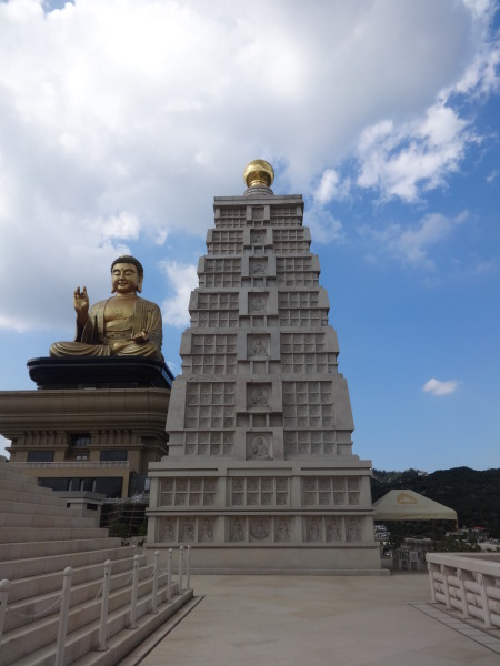
<path id="1" fill-rule="evenodd" d="M 254 160 L 242 196 L 214 199 L 148 548 L 191 545 L 197 573 L 379 573 L 371 463 L 351 451 L 302 196 L 274 195 L 273 176 Z"/>

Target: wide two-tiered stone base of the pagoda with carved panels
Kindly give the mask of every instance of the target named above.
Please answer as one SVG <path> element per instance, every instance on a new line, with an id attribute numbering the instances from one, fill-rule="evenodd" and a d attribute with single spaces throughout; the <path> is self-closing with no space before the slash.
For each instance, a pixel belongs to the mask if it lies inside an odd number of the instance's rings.
<path id="1" fill-rule="evenodd" d="M 180 461 L 149 466 L 146 548 L 191 547 L 197 574 L 384 575 L 373 538 L 370 464 Z"/>

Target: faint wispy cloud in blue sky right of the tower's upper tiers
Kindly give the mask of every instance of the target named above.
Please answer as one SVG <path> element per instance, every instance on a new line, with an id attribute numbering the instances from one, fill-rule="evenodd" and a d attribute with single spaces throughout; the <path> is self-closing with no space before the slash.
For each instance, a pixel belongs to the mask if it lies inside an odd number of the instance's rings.
<path id="1" fill-rule="evenodd" d="M 456 218 L 430 213 L 413 228 L 391 223 L 377 230 L 364 225 L 360 233 L 369 241 L 371 254 L 388 254 L 406 265 L 432 270 L 434 262 L 429 250 L 449 238 L 467 218 L 467 211 Z"/>

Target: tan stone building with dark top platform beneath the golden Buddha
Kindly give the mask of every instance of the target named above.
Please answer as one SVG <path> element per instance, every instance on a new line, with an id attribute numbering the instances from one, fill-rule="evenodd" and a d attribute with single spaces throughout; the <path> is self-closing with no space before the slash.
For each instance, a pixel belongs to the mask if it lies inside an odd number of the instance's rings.
<path id="1" fill-rule="evenodd" d="M 169 369 L 146 359 L 36 359 L 33 391 L 0 392 L 10 463 L 54 491 L 124 498 L 168 452 Z"/>

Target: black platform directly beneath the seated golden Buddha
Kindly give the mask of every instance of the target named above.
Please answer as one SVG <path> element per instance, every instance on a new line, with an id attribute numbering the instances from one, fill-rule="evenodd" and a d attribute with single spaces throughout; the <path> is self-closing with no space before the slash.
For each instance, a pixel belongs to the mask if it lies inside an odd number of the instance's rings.
<path id="1" fill-rule="evenodd" d="M 170 389 L 169 366 L 150 359 L 40 357 L 28 361 L 38 389 Z"/>

